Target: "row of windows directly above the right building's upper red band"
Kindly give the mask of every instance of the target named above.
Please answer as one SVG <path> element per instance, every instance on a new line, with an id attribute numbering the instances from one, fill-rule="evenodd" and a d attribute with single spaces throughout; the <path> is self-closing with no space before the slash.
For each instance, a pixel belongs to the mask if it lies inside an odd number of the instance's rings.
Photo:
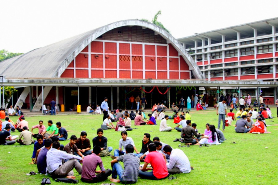
<path id="1" fill-rule="evenodd" d="M 258 53 L 269 53 L 273 51 L 273 45 L 264 45 L 264 46 L 258 46 L 257 47 Z M 276 51 L 278 51 L 278 44 L 276 44 Z M 245 47 L 240 49 L 240 55 L 253 55 L 254 54 L 254 47 Z M 238 56 L 238 50 L 228 50 L 225 51 L 225 57 L 235 57 Z M 203 55 L 193 55 L 192 58 L 197 61 L 202 61 L 203 60 Z M 223 58 L 222 56 L 222 51 L 219 52 L 214 52 L 210 53 L 210 59 L 221 59 Z M 204 60 L 208 60 L 208 54 L 204 54 Z"/>

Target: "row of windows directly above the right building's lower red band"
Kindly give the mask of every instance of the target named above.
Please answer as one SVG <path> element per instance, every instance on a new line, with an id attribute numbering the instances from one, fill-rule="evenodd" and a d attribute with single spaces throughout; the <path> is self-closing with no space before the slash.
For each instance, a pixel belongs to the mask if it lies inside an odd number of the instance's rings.
<path id="1" fill-rule="evenodd" d="M 266 66 L 257 66 L 255 67 L 246 67 L 241 68 L 241 75 L 252 75 L 255 74 L 255 70 L 257 70 L 257 74 L 266 74 L 266 73 L 273 73 L 273 65 L 266 65 Z M 276 71 L 278 71 L 278 65 L 276 65 Z M 208 78 L 208 72 L 204 72 L 205 77 Z M 217 76 L 237 76 L 238 75 L 238 68 L 232 69 L 225 69 L 224 73 L 223 70 L 213 70 L 210 71 L 210 77 L 217 77 Z"/>

